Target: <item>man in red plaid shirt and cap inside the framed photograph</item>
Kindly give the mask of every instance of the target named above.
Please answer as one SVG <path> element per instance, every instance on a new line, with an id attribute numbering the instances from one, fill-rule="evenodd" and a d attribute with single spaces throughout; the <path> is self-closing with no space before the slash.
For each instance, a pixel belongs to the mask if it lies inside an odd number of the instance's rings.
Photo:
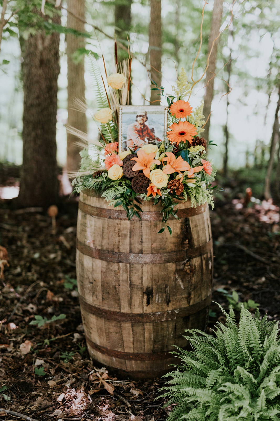
<path id="1" fill-rule="evenodd" d="M 126 144 L 133 152 L 147 143 L 152 143 L 155 140 L 161 141 L 145 124 L 147 120 L 147 111 L 141 109 L 137 112 L 136 121 L 128 126 Z"/>

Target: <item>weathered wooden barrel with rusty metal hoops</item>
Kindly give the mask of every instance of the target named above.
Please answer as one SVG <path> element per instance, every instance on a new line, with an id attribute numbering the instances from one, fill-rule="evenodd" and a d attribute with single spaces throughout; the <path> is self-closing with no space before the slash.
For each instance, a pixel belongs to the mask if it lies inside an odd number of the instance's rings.
<path id="1" fill-rule="evenodd" d="M 94 361 L 133 379 L 170 370 L 184 330 L 207 326 L 212 293 L 208 204 L 178 203 L 180 220 L 163 226 L 161 205 L 141 205 L 128 221 L 93 191 L 81 193 L 76 269 L 81 314 Z"/>

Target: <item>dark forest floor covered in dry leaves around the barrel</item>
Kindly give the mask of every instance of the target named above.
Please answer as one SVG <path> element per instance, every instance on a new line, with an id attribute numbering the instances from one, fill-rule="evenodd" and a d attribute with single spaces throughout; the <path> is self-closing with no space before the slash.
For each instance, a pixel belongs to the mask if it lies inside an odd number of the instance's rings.
<path id="1" fill-rule="evenodd" d="M 261 314 L 280 320 L 277 209 L 242 203 L 217 202 L 210 212 L 212 299 L 228 309 L 227 294 L 234 290 L 239 301 L 252 300 Z M 0 245 L 10 264 L 0 280 L 0 408 L 42 421 L 165 420 L 171 407 L 163 408 L 160 397 L 164 379 L 123 380 L 95 368 L 89 358 L 74 281 L 77 201 L 60 206 L 55 234 L 47 213 L 31 210 L 0 203 Z M 37 315 L 42 326 L 30 324 Z M 225 316 L 212 302 L 209 333 L 217 320 L 225 322 Z M 12 419 L 0 410 L 0 420 Z"/>

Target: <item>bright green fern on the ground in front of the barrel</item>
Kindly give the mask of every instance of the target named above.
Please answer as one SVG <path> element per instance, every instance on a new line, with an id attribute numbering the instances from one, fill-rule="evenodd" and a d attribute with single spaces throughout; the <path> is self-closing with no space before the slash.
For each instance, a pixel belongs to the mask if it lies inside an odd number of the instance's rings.
<path id="1" fill-rule="evenodd" d="M 215 336 L 186 330 L 193 351 L 175 352 L 182 363 L 165 387 L 168 421 L 280 420 L 280 346 L 276 322 L 243 306 L 239 326 L 233 309 Z"/>

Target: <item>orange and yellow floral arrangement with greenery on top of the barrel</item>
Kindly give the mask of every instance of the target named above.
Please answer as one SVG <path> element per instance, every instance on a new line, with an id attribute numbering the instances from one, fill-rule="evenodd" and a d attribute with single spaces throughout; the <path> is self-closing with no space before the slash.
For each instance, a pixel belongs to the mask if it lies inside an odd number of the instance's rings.
<path id="1" fill-rule="evenodd" d="M 207 160 L 207 143 L 199 137 L 205 124 L 203 101 L 192 109 L 186 97 L 191 94 L 191 83 L 181 69 L 174 96 L 166 96 L 168 130 L 163 141 L 144 144 L 136 153 L 119 151 L 118 107 L 128 102 L 131 61 L 123 61 L 120 69 L 106 77 L 101 76 L 96 62 L 92 62 L 97 111 L 92 117 L 99 127 L 99 140 L 89 141 L 84 133 L 68 127 L 68 131 L 86 141 L 80 152 L 81 168 L 72 185 L 74 192 L 94 189 L 114 207 L 122 205 L 128 219 L 141 219 L 142 201 L 161 201 L 162 222 L 176 216 L 178 200 L 191 200 L 191 206 L 205 202 L 214 206 L 211 183 L 215 169 Z M 156 86 L 156 85 L 155 85 Z M 156 88 L 163 95 L 163 88 Z M 86 110 L 81 105 L 80 110 Z M 81 145 L 81 143 L 80 143 Z M 85 145 L 83 145 L 85 146 Z M 165 226 L 159 232 L 163 232 Z M 167 226 L 171 234 L 171 229 Z"/>

